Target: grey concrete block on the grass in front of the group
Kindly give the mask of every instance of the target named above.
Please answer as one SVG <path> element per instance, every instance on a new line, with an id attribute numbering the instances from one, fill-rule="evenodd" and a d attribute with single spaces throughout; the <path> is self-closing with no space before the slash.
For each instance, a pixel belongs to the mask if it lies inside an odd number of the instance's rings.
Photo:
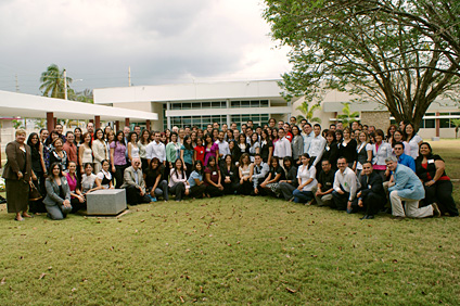
<path id="1" fill-rule="evenodd" d="M 118 215 L 126 208 L 125 189 L 102 189 L 87 194 L 88 215 Z"/>

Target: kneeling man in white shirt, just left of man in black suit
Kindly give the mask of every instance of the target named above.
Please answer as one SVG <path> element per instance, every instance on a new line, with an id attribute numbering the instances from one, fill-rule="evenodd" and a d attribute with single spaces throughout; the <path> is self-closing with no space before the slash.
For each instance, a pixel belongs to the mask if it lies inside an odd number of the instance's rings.
<path id="1" fill-rule="evenodd" d="M 358 190 L 358 181 L 355 171 L 348 168 L 345 157 L 338 157 L 337 168 L 334 176 L 334 191 L 332 191 L 332 207 L 335 206 L 336 209 L 350 214 L 352 202 Z"/>

